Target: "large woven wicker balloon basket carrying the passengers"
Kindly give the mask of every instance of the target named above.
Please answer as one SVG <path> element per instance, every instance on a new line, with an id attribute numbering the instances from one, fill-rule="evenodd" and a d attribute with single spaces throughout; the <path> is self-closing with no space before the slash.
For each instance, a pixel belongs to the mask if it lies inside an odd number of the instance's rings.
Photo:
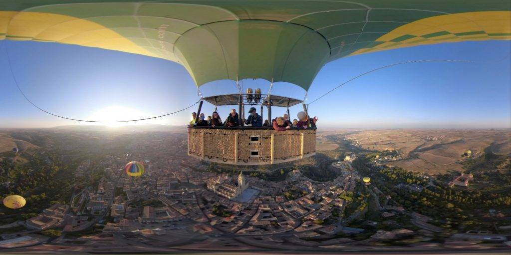
<path id="1" fill-rule="evenodd" d="M 190 128 L 188 155 L 231 165 L 269 165 L 316 152 L 315 129 Z"/>

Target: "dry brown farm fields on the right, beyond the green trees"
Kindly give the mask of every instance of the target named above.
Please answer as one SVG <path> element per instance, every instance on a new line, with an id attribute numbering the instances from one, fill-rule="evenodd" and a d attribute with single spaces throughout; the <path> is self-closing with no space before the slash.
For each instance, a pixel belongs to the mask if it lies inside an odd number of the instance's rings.
<path id="1" fill-rule="evenodd" d="M 506 129 L 365 130 L 346 139 L 362 149 L 398 150 L 399 156 L 389 158 L 385 165 L 431 174 L 462 171 L 467 159 L 462 154 L 467 150 L 473 157 L 488 147 L 497 155 L 511 154 L 511 133 Z"/>

